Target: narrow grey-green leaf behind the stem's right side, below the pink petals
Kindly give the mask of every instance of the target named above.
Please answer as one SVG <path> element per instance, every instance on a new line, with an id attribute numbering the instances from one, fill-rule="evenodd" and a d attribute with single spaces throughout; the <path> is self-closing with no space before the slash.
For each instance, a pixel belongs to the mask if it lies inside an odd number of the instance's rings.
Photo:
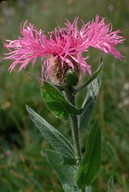
<path id="1" fill-rule="evenodd" d="M 96 99 L 98 97 L 100 87 L 101 87 L 101 74 L 99 74 L 97 78 L 94 79 L 94 81 L 92 81 L 87 87 L 87 95 L 82 105 L 83 113 L 79 119 L 80 130 L 82 131 L 86 129 L 86 126 L 90 120 L 90 117 L 96 104 Z"/>

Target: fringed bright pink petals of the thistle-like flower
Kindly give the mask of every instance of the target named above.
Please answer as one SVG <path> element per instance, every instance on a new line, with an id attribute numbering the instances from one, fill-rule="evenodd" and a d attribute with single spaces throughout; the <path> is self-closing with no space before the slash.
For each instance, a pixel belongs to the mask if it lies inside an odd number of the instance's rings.
<path id="1" fill-rule="evenodd" d="M 110 53 L 114 57 L 121 59 L 122 55 L 116 50 L 115 45 L 122 43 L 124 38 L 119 35 L 120 31 L 112 31 L 111 24 L 105 24 L 104 18 L 99 21 L 99 16 L 95 20 L 85 24 L 78 29 L 78 18 L 73 23 L 68 20 L 64 28 L 57 28 L 46 36 L 42 30 L 37 30 L 34 25 L 27 22 L 21 26 L 22 37 L 17 40 L 6 40 L 4 46 L 9 50 L 4 59 L 13 60 L 9 67 L 11 72 L 19 65 L 19 71 L 25 68 L 31 61 L 36 63 L 37 58 L 43 58 L 42 77 L 44 73 L 48 79 L 51 69 L 58 61 L 63 69 L 64 65 L 74 69 L 75 63 L 84 72 L 88 71 L 92 75 L 91 68 L 87 64 L 82 53 L 89 47 L 94 47 L 105 53 Z"/>

